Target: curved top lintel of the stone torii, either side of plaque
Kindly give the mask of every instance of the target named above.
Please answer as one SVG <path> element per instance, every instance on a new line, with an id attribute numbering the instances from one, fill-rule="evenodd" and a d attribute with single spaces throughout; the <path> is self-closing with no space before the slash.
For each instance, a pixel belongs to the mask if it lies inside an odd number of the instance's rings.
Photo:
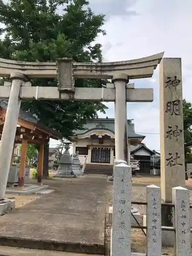
<path id="1" fill-rule="evenodd" d="M 117 62 L 73 62 L 75 78 L 108 78 L 118 73 L 129 75 L 129 79 L 152 77 L 164 52 L 144 58 Z M 56 62 L 26 62 L 0 58 L 0 76 L 9 77 L 20 72 L 29 78 L 57 77 Z"/>

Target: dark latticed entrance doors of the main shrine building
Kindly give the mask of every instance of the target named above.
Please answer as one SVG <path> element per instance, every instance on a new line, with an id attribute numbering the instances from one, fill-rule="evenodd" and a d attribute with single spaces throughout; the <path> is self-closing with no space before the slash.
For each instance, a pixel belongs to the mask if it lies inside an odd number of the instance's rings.
<path id="1" fill-rule="evenodd" d="M 92 163 L 110 163 L 111 148 L 110 147 L 92 147 L 91 162 Z"/>

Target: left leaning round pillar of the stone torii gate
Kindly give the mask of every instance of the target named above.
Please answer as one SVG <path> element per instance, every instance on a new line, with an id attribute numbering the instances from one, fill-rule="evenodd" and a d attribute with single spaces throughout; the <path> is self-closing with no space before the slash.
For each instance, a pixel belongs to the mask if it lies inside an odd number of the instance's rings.
<path id="1" fill-rule="evenodd" d="M 13 145 L 15 141 L 15 133 L 18 122 L 21 100 L 19 98 L 20 87 L 26 76 L 22 73 L 13 73 L 10 76 L 11 91 L 6 111 L 6 118 L 2 133 L 2 141 L 0 147 L 0 200 L 4 200 L 7 180 L 9 175 L 10 162 L 12 157 Z"/>

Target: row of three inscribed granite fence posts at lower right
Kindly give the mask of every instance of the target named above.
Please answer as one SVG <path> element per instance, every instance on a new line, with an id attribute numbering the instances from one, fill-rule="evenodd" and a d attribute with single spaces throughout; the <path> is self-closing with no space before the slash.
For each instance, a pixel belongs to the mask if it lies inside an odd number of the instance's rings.
<path id="1" fill-rule="evenodd" d="M 113 225 L 111 256 L 131 256 L 132 172 L 125 163 L 114 166 Z M 146 186 L 146 246 L 147 256 L 162 255 L 161 189 Z M 175 255 L 190 256 L 189 190 L 173 188 Z M 142 254 L 139 254 L 142 255 Z M 145 255 L 145 254 L 144 254 Z"/>

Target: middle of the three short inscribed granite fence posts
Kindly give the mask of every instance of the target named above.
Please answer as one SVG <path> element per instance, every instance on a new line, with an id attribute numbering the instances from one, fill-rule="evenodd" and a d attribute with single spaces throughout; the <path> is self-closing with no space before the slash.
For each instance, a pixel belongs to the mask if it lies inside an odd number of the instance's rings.
<path id="1" fill-rule="evenodd" d="M 161 256 L 161 189 L 146 187 L 147 256 Z"/>

